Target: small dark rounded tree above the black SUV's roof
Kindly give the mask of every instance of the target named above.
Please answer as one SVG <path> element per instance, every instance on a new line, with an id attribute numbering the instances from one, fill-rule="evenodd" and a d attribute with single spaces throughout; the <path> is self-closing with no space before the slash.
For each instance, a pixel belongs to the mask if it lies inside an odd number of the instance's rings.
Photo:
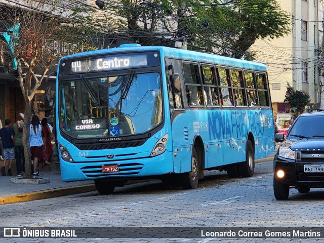
<path id="1" fill-rule="evenodd" d="M 305 110 L 305 106 L 310 102 L 310 97 L 309 94 L 303 90 L 295 91 L 294 88 L 287 83 L 287 92 L 284 101 L 287 102 L 291 108 L 296 107 L 296 112 L 301 113 Z"/>

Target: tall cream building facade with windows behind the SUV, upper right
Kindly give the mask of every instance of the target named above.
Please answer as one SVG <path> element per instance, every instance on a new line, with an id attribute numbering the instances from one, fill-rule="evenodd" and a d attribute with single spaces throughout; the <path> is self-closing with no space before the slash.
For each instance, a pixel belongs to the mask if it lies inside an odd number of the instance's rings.
<path id="1" fill-rule="evenodd" d="M 292 15 L 291 33 L 277 39 L 259 39 L 252 50 L 257 52 L 257 61 L 267 65 L 274 116 L 291 113 L 293 117 L 294 107 L 284 102 L 287 83 L 309 94 L 307 108 L 324 106 L 321 102 L 323 1 L 277 2 L 282 10 Z"/>

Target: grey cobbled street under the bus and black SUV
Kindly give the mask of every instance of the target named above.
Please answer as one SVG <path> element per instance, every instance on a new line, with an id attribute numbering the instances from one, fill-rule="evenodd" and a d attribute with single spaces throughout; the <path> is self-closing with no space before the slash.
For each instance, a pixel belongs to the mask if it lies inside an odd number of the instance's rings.
<path id="1" fill-rule="evenodd" d="M 272 163 L 258 163 L 252 178 L 229 179 L 226 173 L 206 173 L 196 190 L 168 187 L 160 181 L 116 188 L 112 195 L 88 192 L 3 205 L 5 227 L 217 227 L 322 226 L 323 189 L 310 193 L 291 190 L 289 200 L 275 200 Z M 216 238 L 88 238 L 83 242 L 213 242 Z M 322 239 L 222 239 L 223 242 L 321 242 Z M 42 242 L 81 242 L 46 238 Z M 18 242 L 6 239 L 6 242 Z M 19 242 L 34 242 L 19 238 Z M 41 241 L 38 241 L 41 242 Z"/>

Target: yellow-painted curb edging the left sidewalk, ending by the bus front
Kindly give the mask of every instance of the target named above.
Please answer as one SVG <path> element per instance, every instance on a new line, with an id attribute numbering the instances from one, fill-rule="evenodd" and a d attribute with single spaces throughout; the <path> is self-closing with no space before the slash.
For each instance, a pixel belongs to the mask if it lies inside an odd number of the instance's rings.
<path id="1" fill-rule="evenodd" d="M 83 186 L 71 186 L 65 188 L 54 188 L 54 189 L 43 190 L 43 191 L 33 191 L 33 192 L 27 192 L 27 193 L 21 193 L 16 195 L 9 195 L 9 196 L 0 196 L 0 205 L 20 203 L 22 201 L 47 199 L 52 197 L 66 196 L 66 195 L 90 192 L 95 190 L 97 190 L 95 184 L 89 184 Z"/>

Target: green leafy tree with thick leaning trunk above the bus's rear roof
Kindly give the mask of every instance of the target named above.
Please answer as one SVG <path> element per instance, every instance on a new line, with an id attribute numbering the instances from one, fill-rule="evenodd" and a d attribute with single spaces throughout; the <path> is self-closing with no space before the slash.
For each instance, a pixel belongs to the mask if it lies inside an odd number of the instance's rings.
<path id="1" fill-rule="evenodd" d="M 276 0 L 235 0 L 206 13 L 209 26 L 192 31 L 188 44 L 238 59 L 253 59 L 249 48 L 257 39 L 285 36 L 291 29 L 291 15 Z"/>

